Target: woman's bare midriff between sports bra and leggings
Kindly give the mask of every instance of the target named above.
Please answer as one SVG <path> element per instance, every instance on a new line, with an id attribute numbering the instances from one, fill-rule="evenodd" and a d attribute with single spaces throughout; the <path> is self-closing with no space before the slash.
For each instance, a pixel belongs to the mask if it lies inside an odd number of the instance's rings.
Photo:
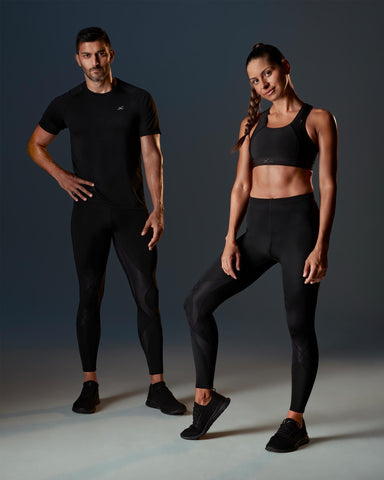
<path id="1" fill-rule="evenodd" d="M 252 171 L 251 197 L 285 198 L 311 192 L 311 170 L 285 165 L 260 165 Z"/>

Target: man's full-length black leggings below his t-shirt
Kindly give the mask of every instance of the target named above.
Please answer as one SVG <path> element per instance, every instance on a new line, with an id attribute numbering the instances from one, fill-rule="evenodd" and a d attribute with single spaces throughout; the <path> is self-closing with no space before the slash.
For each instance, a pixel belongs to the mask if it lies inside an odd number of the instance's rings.
<path id="1" fill-rule="evenodd" d="M 163 337 L 156 285 L 156 249 L 152 233 L 141 236 L 145 210 L 111 207 L 92 198 L 74 204 L 71 232 L 80 287 L 77 339 L 85 372 L 96 370 L 100 341 L 100 305 L 111 240 L 137 305 L 137 325 L 149 373 L 163 372 Z"/>

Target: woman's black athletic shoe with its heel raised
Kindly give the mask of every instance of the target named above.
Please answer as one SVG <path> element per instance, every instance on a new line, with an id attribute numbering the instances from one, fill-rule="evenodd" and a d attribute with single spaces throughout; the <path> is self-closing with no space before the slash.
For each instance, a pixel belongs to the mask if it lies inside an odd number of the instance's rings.
<path id="1" fill-rule="evenodd" d="M 193 423 L 180 433 L 181 438 L 198 440 L 205 435 L 212 423 L 228 407 L 230 401 L 230 398 L 223 397 L 223 395 L 212 391 L 212 398 L 207 405 L 199 405 L 195 402 L 193 406 Z"/>

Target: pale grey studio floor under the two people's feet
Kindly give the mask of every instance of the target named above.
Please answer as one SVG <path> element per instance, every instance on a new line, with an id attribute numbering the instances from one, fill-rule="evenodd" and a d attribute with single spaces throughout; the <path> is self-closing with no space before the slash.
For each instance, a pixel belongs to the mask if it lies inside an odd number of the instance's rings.
<path id="1" fill-rule="evenodd" d="M 384 471 L 384 359 L 322 358 L 306 411 L 311 442 L 274 454 L 265 444 L 290 396 L 289 362 L 221 349 L 217 390 L 226 412 L 198 441 L 179 433 L 192 422 L 190 347 L 168 348 L 167 384 L 184 416 L 144 405 L 148 379 L 136 347 L 100 353 L 101 404 L 72 413 L 81 388 L 73 350 L 3 352 L 2 480 L 381 480 Z"/>

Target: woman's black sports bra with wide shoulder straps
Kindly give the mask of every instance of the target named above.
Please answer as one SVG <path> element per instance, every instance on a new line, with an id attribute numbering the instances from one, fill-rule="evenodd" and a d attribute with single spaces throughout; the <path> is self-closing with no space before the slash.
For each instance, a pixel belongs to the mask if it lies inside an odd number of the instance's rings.
<path id="1" fill-rule="evenodd" d="M 304 103 L 291 123 L 278 128 L 267 127 L 269 109 L 262 112 L 249 144 L 252 168 L 287 165 L 312 170 L 319 149 L 305 128 L 311 110 Z"/>

